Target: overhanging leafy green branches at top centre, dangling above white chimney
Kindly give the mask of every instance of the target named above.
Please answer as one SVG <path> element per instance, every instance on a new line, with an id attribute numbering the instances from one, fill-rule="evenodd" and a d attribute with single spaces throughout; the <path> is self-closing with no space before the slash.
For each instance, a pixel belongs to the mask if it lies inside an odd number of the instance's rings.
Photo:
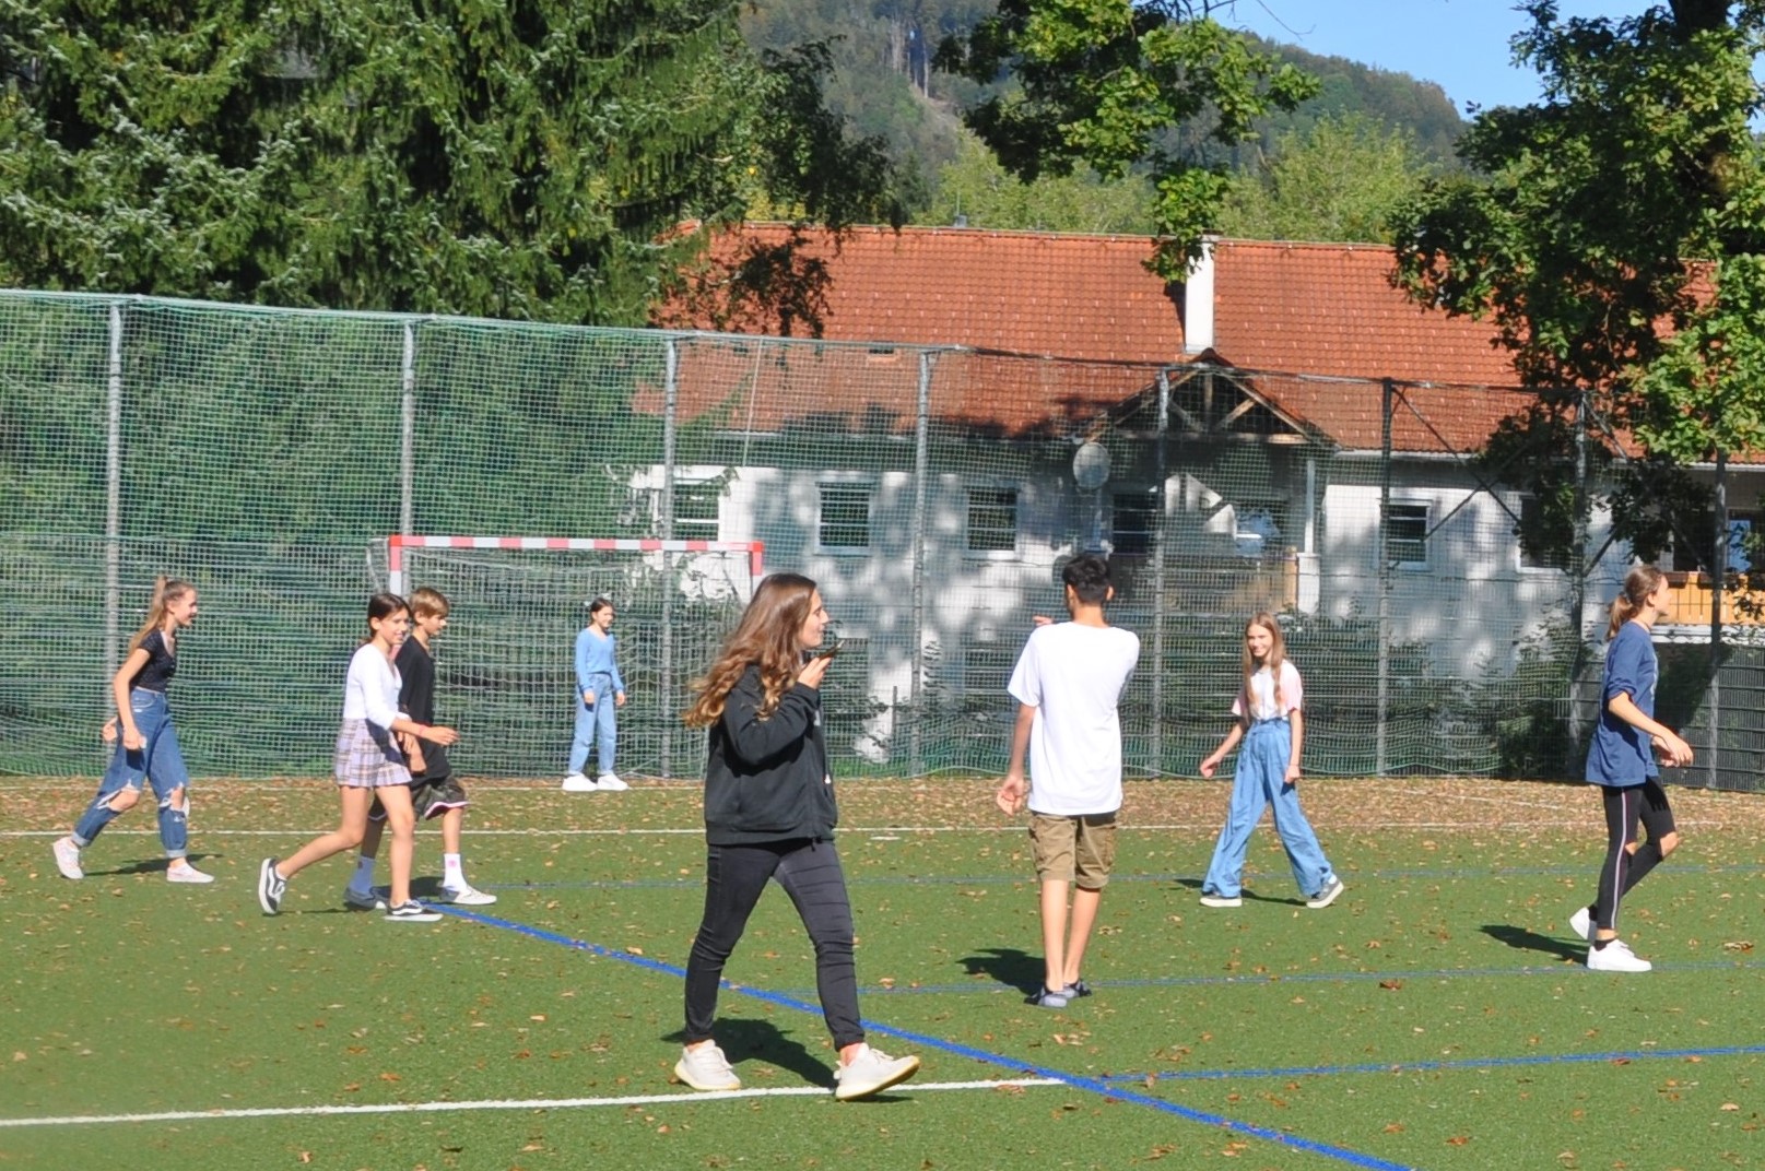
<path id="1" fill-rule="evenodd" d="M 1011 74 L 1018 88 L 964 122 L 1024 180 L 1145 168 L 1158 190 L 1151 266 L 1181 279 L 1230 180 L 1223 164 L 1163 150 L 1163 136 L 1211 113 L 1209 138 L 1243 141 L 1258 116 L 1317 93 L 1317 81 L 1213 19 L 1223 9 L 1230 0 L 1001 0 L 967 39 L 944 41 L 935 63 L 976 81 Z"/>

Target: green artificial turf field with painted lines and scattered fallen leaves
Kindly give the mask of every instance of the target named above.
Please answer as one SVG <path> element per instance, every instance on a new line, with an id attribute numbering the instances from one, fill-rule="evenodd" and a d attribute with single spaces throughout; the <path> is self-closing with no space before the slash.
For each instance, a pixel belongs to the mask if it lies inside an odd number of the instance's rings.
<path id="1" fill-rule="evenodd" d="M 64 880 L 86 781 L 9 779 L 0 1167 L 1687 1167 L 1765 1152 L 1765 797 L 1675 788 L 1686 845 L 1626 901 L 1656 970 L 1590 973 L 1566 919 L 1603 854 L 1585 787 L 1304 781 L 1347 882 L 1308 910 L 1264 825 L 1237 910 L 1197 905 L 1225 783 L 1128 785 L 1093 996 L 1041 975 L 1022 824 L 990 779 L 842 781 L 870 1040 L 914 1081 L 835 1102 L 814 961 L 768 892 L 718 1040 L 671 1083 L 701 908 L 697 788 L 477 783 L 484 914 L 390 924 L 349 862 L 256 905 L 335 820 L 327 781 L 205 783 L 164 882 L 143 806 Z M 418 831 L 418 875 L 439 873 Z M 381 880 L 385 869 L 381 869 Z M 418 880 L 418 894 L 434 878 Z"/>

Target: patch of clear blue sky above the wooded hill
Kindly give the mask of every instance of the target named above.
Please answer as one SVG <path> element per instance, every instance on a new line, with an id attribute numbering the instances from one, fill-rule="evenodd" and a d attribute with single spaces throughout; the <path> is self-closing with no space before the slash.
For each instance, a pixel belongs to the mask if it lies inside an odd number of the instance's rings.
<path id="1" fill-rule="evenodd" d="M 1645 0 L 1560 0 L 1569 16 L 1634 16 Z M 1297 44 L 1423 81 L 1453 104 L 1521 106 L 1539 95 L 1537 74 L 1514 69 L 1509 39 L 1525 25 L 1509 0 L 1237 0 L 1218 14 L 1273 41 Z"/>

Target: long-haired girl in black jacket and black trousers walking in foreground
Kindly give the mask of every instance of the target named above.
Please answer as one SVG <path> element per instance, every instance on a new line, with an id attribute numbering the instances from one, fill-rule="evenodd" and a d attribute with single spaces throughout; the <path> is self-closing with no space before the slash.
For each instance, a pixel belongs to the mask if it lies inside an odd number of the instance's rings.
<path id="1" fill-rule="evenodd" d="M 833 848 L 838 809 L 821 734 L 821 681 L 831 654 L 814 654 L 828 628 L 815 582 L 773 573 L 694 682 L 688 727 L 706 728 L 704 919 L 687 959 L 685 1048 L 674 1076 L 694 1090 L 741 1081 L 711 1039 L 724 963 L 768 880 L 784 887 L 815 945 L 821 1012 L 840 1049 L 833 1097 L 868 1097 L 920 1069 L 865 1044 L 852 963 L 852 906 Z"/>

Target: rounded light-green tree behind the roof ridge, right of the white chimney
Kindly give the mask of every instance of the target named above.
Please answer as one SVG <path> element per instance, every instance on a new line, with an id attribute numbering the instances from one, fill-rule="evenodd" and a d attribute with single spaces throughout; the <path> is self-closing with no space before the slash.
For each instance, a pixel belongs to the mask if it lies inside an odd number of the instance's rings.
<path id="1" fill-rule="evenodd" d="M 1220 231 L 1248 240 L 1391 243 L 1391 217 L 1431 168 L 1416 134 L 1364 115 L 1320 118 L 1287 132 L 1255 173 L 1234 176 Z"/>

